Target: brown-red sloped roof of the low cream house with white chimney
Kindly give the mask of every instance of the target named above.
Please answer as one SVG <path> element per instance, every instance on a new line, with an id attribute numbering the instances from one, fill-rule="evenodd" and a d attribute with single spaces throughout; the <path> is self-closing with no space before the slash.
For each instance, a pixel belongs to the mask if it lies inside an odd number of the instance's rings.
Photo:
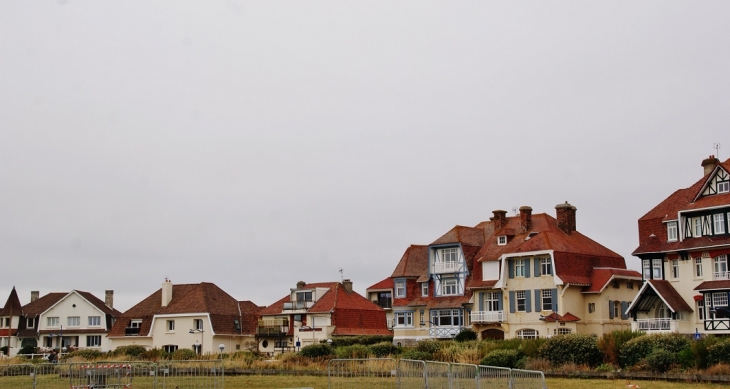
<path id="1" fill-rule="evenodd" d="M 152 327 L 155 315 L 208 314 L 216 334 L 240 334 L 234 319 L 241 318 L 239 302 L 210 282 L 178 284 L 172 286 L 172 299 L 162 306 L 162 288 L 124 312 L 109 332 L 110 337 L 124 336 L 125 328 L 132 319 L 142 319 L 140 335 L 145 336 Z"/>

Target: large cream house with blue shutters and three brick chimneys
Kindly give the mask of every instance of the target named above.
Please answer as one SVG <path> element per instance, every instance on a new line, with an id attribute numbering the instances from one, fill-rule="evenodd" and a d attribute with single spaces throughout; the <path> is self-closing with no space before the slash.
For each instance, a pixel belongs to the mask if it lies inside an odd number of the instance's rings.
<path id="1" fill-rule="evenodd" d="M 482 339 L 629 328 L 625 311 L 641 275 L 576 230 L 575 207 L 556 211 L 494 211 L 475 227 L 410 246 L 391 275 L 394 342 L 448 339 L 465 328 Z"/>

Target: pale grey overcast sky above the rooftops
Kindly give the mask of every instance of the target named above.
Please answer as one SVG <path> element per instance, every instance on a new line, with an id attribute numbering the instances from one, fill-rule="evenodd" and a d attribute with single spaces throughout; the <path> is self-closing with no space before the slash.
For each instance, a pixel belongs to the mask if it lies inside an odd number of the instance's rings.
<path id="1" fill-rule="evenodd" d="M 495 209 L 639 217 L 730 156 L 727 1 L 2 1 L 0 299 L 268 305 Z"/>

